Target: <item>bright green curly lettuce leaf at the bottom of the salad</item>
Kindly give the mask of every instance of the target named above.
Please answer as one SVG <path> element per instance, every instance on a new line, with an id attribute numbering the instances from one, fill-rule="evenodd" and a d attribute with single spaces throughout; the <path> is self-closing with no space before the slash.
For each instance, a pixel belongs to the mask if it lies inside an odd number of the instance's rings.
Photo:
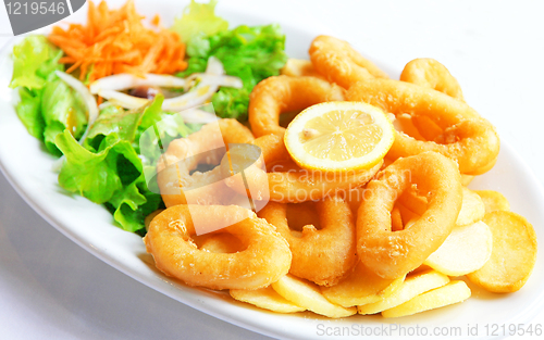
<path id="1" fill-rule="evenodd" d="M 141 161 L 129 141 L 112 133 L 95 153 L 65 130 L 57 136 L 57 146 L 66 156 L 59 174 L 61 187 L 104 203 L 124 230 L 144 230 L 145 216 L 159 209 L 162 200 L 147 189 Z"/>

